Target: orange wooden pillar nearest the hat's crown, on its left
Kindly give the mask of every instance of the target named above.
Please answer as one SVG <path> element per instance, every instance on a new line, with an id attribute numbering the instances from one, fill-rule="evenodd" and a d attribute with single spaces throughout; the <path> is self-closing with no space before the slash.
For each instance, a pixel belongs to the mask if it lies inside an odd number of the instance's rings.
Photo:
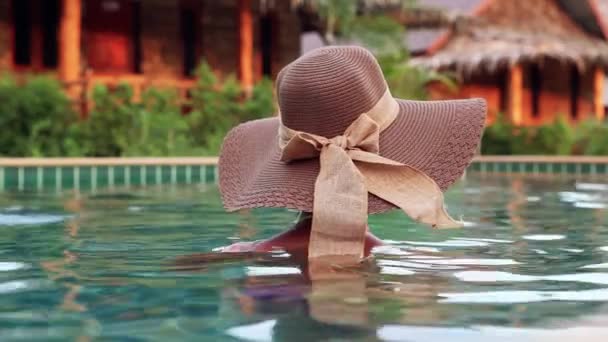
<path id="1" fill-rule="evenodd" d="M 253 18 L 251 0 L 239 0 L 239 78 L 246 92 L 253 88 Z"/>

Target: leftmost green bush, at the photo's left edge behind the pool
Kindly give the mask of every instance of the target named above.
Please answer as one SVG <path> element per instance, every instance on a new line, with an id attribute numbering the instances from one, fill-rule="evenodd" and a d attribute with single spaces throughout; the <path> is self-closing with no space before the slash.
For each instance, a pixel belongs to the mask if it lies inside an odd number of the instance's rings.
<path id="1" fill-rule="evenodd" d="M 0 77 L 0 155 L 61 156 L 66 127 L 77 119 L 59 82 L 47 76 L 23 83 Z"/>

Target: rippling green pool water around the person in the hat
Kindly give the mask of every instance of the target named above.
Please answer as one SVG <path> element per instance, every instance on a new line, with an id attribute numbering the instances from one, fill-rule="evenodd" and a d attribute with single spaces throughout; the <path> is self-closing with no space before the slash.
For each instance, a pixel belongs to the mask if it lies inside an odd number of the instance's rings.
<path id="1" fill-rule="evenodd" d="M 281 251 L 176 268 L 296 218 L 227 214 L 214 185 L 3 193 L 0 339 L 608 338 L 605 179 L 469 177 L 447 202 L 464 229 L 373 216 L 389 244 L 345 279 L 311 282 Z"/>

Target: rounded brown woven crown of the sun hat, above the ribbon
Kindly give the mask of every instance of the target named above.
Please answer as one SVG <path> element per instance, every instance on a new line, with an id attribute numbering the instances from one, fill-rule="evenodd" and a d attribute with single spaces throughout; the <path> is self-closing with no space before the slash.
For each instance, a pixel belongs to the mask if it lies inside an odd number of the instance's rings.
<path id="1" fill-rule="evenodd" d="M 344 133 L 385 91 L 374 56 L 354 46 L 314 50 L 285 67 L 277 78 L 283 124 L 328 138 Z"/>

